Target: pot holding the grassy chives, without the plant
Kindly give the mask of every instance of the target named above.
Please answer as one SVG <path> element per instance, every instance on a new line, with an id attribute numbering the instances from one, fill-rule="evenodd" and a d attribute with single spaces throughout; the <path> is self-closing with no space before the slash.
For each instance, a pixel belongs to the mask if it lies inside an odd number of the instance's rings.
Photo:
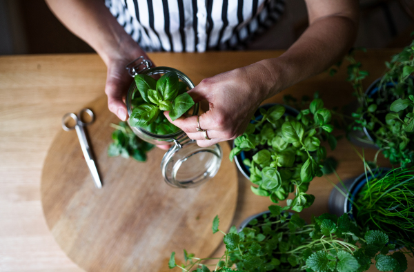
<path id="1" fill-rule="evenodd" d="M 380 171 L 374 173 L 375 177 L 385 175 L 390 170 L 391 168 L 382 167 L 380 168 Z M 355 199 L 355 196 L 361 190 L 361 188 L 366 184 L 366 177 L 370 179 L 372 177 L 371 173 L 367 172 L 366 175 L 365 173 L 362 173 L 355 179 L 347 179 L 346 181 L 344 181 L 344 185 L 346 188 L 344 188 L 342 184 L 338 183 L 337 186 L 346 196 L 339 192 L 337 188 L 333 188 L 328 200 L 329 213 L 333 213 L 339 217 L 344 213 L 350 212 L 353 208 L 352 201 Z M 353 218 L 353 215 L 350 214 L 350 217 Z"/>

